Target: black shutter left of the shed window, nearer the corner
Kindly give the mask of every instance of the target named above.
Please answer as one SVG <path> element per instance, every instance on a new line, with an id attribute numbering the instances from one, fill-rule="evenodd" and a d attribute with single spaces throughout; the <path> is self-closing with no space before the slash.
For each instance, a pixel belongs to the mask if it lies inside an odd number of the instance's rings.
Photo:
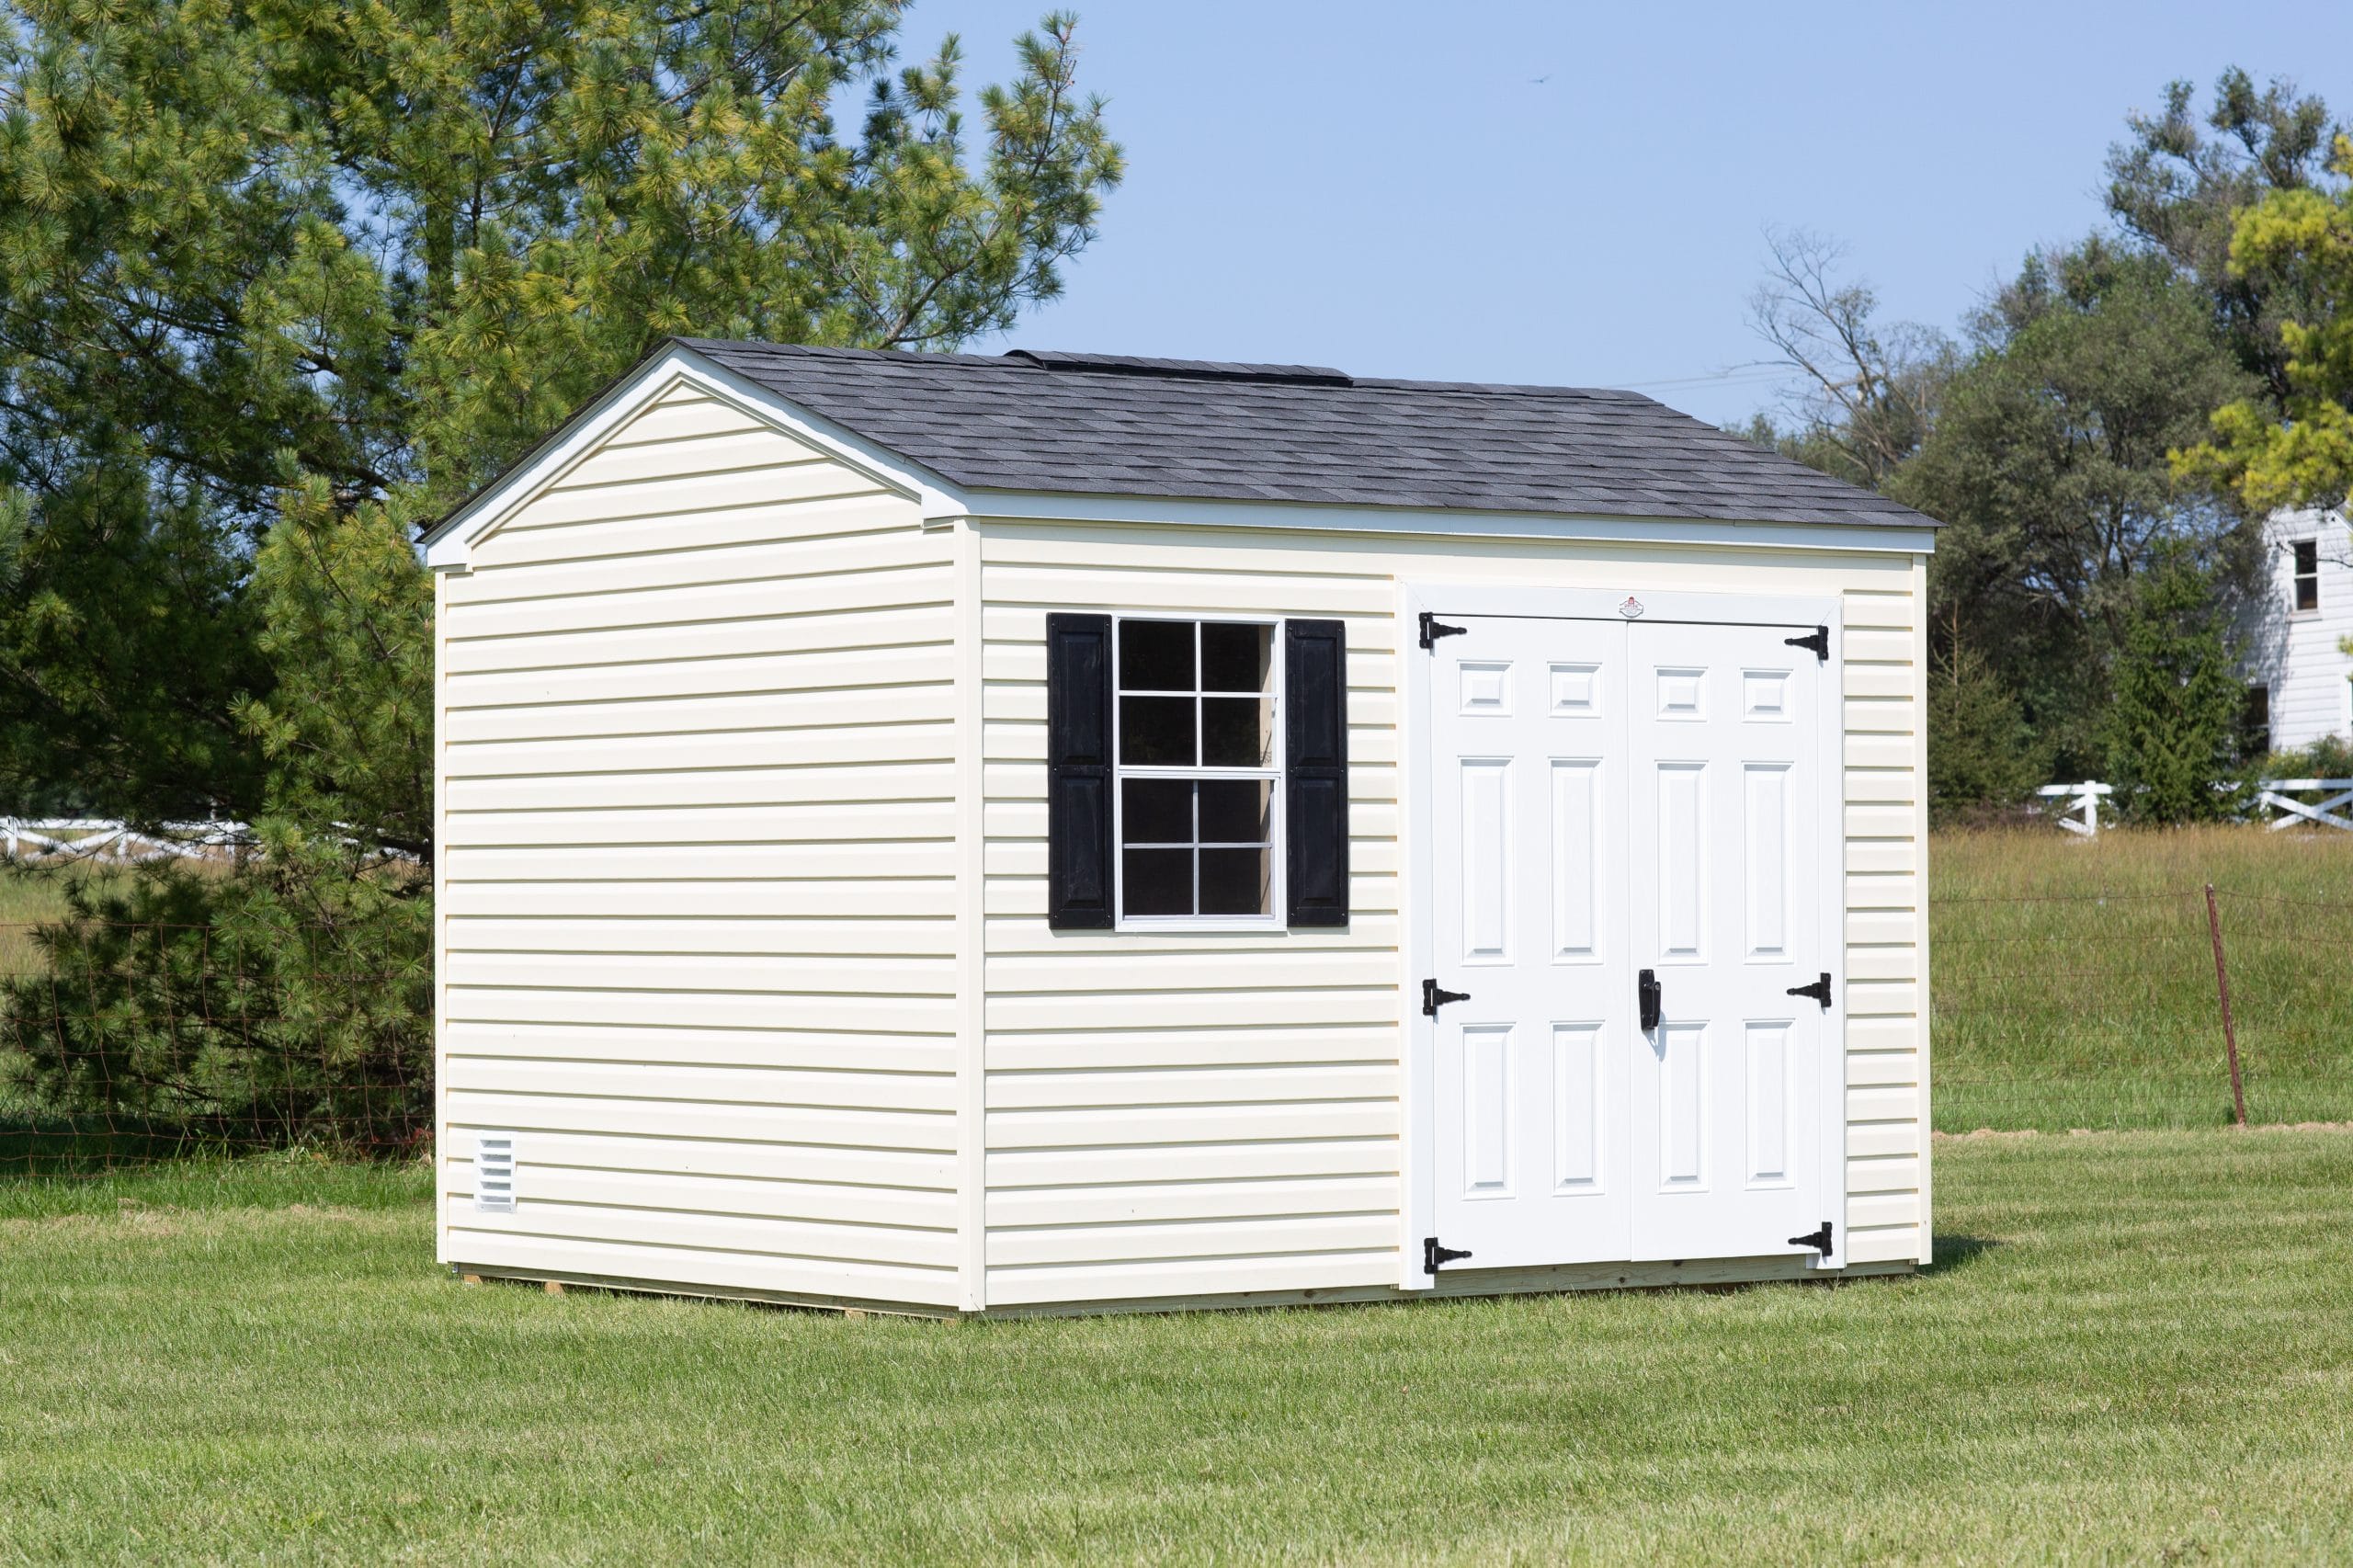
<path id="1" fill-rule="evenodd" d="M 1045 923 L 1111 925 L 1111 617 L 1045 617 Z"/>

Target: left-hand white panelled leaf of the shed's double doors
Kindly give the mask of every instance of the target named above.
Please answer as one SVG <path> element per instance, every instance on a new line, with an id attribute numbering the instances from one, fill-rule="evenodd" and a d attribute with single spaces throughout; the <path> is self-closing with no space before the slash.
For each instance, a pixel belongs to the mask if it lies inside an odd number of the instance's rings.
<path id="1" fill-rule="evenodd" d="M 1628 1253 L 1626 631 L 1438 640 L 1438 1236 L 1461 1267 Z"/>

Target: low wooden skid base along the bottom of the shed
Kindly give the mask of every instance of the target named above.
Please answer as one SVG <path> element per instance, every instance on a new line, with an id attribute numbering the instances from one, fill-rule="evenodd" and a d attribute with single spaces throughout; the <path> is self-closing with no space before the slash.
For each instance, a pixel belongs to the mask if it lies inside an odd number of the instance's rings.
<path id="1" fill-rule="evenodd" d="M 459 1278 L 471 1285 L 478 1285 L 485 1278 L 499 1278 L 539 1285 L 548 1295 L 562 1295 L 567 1285 L 584 1285 L 591 1290 L 619 1290 L 628 1295 L 680 1295 L 718 1302 L 755 1302 L 762 1307 L 802 1307 L 809 1311 L 838 1311 L 845 1318 L 901 1316 L 955 1323 L 962 1318 L 1089 1318 L 1122 1311 L 1249 1311 L 1266 1307 L 1334 1304 L 1362 1307 L 1372 1302 L 1428 1302 L 1480 1295 L 1558 1295 L 1565 1290 L 1727 1290 L 1739 1285 L 1774 1283 L 1821 1285 L 1915 1274 L 1918 1264 L 1911 1260 L 1894 1260 L 1847 1264 L 1838 1271 L 1819 1271 L 1807 1269 L 1802 1257 L 1718 1257 L 1701 1262 L 1567 1264 L 1560 1269 L 1464 1269 L 1440 1274 L 1428 1290 L 1398 1290 L 1393 1285 L 1355 1285 L 1344 1290 L 1247 1290 L 1238 1295 L 1160 1295 L 1122 1302 L 1042 1302 L 1026 1307 L 995 1307 L 988 1311 L 948 1311 L 941 1307 L 911 1307 L 906 1302 L 871 1302 L 786 1290 L 741 1290 L 729 1285 L 692 1285 L 607 1274 L 515 1274 L 494 1264 L 454 1264 L 454 1269 Z"/>

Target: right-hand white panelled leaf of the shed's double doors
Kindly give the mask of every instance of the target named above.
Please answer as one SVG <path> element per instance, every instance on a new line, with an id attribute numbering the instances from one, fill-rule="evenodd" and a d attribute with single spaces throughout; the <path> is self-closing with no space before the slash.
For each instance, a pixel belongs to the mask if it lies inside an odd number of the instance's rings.
<path id="1" fill-rule="evenodd" d="M 1633 1257 L 1798 1250 L 1821 1210 L 1821 666 L 1786 626 L 1628 626 Z"/>

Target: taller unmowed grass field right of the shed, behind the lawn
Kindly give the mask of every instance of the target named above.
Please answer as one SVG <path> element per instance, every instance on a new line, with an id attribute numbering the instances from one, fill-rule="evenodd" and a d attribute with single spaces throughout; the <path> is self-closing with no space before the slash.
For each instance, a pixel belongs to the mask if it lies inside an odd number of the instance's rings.
<path id="1" fill-rule="evenodd" d="M 1937 1125 L 2226 1123 L 2207 883 L 2249 1121 L 2353 1121 L 2353 833 L 2214 826 L 1929 843 Z"/>

